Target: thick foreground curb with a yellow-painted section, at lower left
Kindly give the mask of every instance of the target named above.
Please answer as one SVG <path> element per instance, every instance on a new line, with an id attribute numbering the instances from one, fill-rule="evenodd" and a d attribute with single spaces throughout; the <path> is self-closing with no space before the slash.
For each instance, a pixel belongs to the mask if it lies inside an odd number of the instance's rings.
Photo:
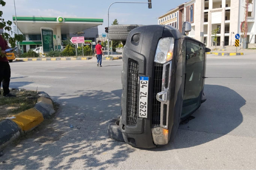
<path id="1" fill-rule="evenodd" d="M 43 91 L 38 92 L 38 95 L 40 97 L 34 108 L 17 113 L 14 115 L 15 119 L 0 121 L 0 151 L 14 139 L 34 129 L 55 113 L 50 96 Z"/>

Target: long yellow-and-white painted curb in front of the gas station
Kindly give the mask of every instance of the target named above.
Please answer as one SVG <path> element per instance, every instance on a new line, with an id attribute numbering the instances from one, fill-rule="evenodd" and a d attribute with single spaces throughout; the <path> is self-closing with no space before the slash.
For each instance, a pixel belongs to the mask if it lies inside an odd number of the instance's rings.
<path id="1" fill-rule="evenodd" d="M 70 60 L 89 60 L 93 57 L 57 57 L 57 58 L 17 58 L 16 61 L 70 61 Z"/>

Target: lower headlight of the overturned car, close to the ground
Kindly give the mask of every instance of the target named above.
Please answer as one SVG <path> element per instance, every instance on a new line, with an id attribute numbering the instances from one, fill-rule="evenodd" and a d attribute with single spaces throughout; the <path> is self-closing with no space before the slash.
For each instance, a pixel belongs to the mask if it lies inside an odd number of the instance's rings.
<path id="1" fill-rule="evenodd" d="M 155 127 L 152 129 L 152 136 L 154 144 L 162 145 L 168 143 L 168 132 L 169 130 L 163 129 L 162 127 Z"/>

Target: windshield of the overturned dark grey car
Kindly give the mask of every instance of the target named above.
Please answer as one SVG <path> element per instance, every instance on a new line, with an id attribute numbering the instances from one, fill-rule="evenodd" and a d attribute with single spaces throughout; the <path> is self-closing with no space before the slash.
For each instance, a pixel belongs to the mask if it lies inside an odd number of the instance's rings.
<path id="1" fill-rule="evenodd" d="M 198 42 L 186 40 L 186 76 L 182 117 L 192 113 L 200 106 L 204 76 L 204 59 L 204 46 Z"/>

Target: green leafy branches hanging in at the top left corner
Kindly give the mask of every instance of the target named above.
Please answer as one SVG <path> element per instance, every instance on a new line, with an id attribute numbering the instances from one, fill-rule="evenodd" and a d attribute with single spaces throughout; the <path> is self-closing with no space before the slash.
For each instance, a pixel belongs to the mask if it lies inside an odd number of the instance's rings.
<path id="1" fill-rule="evenodd" d="M 6 5 L 6 2 L 3 0 L 0 0 L 0 5 L 3 7 Z M 11 47 L 14 48 L 16 45 L 16 41 L 22 42 L 23 41 L 23 35 L 22 34 L 15 34 L 12 31 L 12 21 L 8 20 L 5 21 L 3 18 L 3 11 L 0 11 L 0 28 L 4 28 L 4 33 L 2 34 L 3 38 L 5 40 L 8 40 L 8 42 L 11 44 Z M 12 37 L 14 33 L 14 37 Z M 1 48 L 1 47 L 0 47 Z"/>

